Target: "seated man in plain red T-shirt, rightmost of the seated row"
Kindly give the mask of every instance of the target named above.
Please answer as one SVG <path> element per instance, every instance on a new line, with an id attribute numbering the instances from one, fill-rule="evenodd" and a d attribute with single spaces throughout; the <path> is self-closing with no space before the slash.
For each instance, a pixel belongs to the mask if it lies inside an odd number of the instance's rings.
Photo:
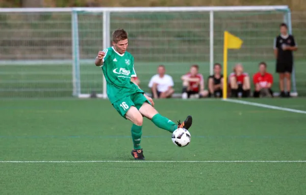
<path id="1" fill-rule="evenodd" d="M 253 83 L 255 85 L 254 98 L 259 98 L 260 96 L 273 97 L 273 91 L 271 90 L 273 76 L 267 72 L 267 64 L 265 62 L 259 63 L 259 72 L 254 74 Z"/>

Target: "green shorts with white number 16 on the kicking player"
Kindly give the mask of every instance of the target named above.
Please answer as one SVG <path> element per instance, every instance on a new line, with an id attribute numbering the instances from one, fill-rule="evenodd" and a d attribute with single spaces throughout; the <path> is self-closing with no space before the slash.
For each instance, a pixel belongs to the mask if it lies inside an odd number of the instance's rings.
<path id="1" fill-rule="evenodd" d="M 143 103 L 151 103 L 145 98 L 143 93 L 137 92 L 129 96 L 125 96 L 124 98 L 113 103 L 114 108 L 119 112 L 119 114 L 125 118 L 126 112 L 131 108 L 131 106 L 135 106 L 137 110 L 143 105 Z M 125 118 L 126 119 L 126 118 Z"/>

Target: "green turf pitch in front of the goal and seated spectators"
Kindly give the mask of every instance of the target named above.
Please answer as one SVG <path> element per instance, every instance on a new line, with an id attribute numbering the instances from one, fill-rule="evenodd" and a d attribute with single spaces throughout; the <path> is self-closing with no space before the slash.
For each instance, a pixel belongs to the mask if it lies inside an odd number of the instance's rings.
<path id="1" fill-rule="evenodd" d="M 305 99 L 252 100 L 306 111 Z M 305 194 L 305 114 L 219 100 L 156 101 L 172 120 L 194 118 L 191 143 L 144 120 L 146 161 L 130 163 L 131 123 L 108 101 L 0 100 L 0 194 Z M 118 163 L 86 162 L 112 160 Z M 275 160 L 276 163 L 169 161 Z"/>

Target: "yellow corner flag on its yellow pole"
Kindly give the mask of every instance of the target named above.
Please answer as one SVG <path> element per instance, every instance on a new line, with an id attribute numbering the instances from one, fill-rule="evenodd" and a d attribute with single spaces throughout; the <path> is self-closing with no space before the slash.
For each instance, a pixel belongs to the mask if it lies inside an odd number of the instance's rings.
<path id="1" fill-rule="evenodd" d="M 223 99 L 227 98 L 227 49 L 240 49 L 242 40 L 228 31 L 224 31 L 223 46 Z"/>

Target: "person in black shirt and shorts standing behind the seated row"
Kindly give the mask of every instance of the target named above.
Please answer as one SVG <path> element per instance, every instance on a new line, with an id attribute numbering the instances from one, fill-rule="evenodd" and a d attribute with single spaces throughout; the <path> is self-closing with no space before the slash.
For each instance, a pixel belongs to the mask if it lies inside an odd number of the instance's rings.
<path id="1" fill-rule="evenodd" d="M 281 97 L 290 97 L 291 73 L 293 69 L 293 51 L 297 50 L 297 45 L 292 35 L 288 34 L 287 24 L 279 25 L 281 34 L 274 39 L 274 54 L 276 57 L 276 72 L 279 74 L 279 90 Z M 284 80 L 286 82 L 287 93 L 284 90 Z"/>

